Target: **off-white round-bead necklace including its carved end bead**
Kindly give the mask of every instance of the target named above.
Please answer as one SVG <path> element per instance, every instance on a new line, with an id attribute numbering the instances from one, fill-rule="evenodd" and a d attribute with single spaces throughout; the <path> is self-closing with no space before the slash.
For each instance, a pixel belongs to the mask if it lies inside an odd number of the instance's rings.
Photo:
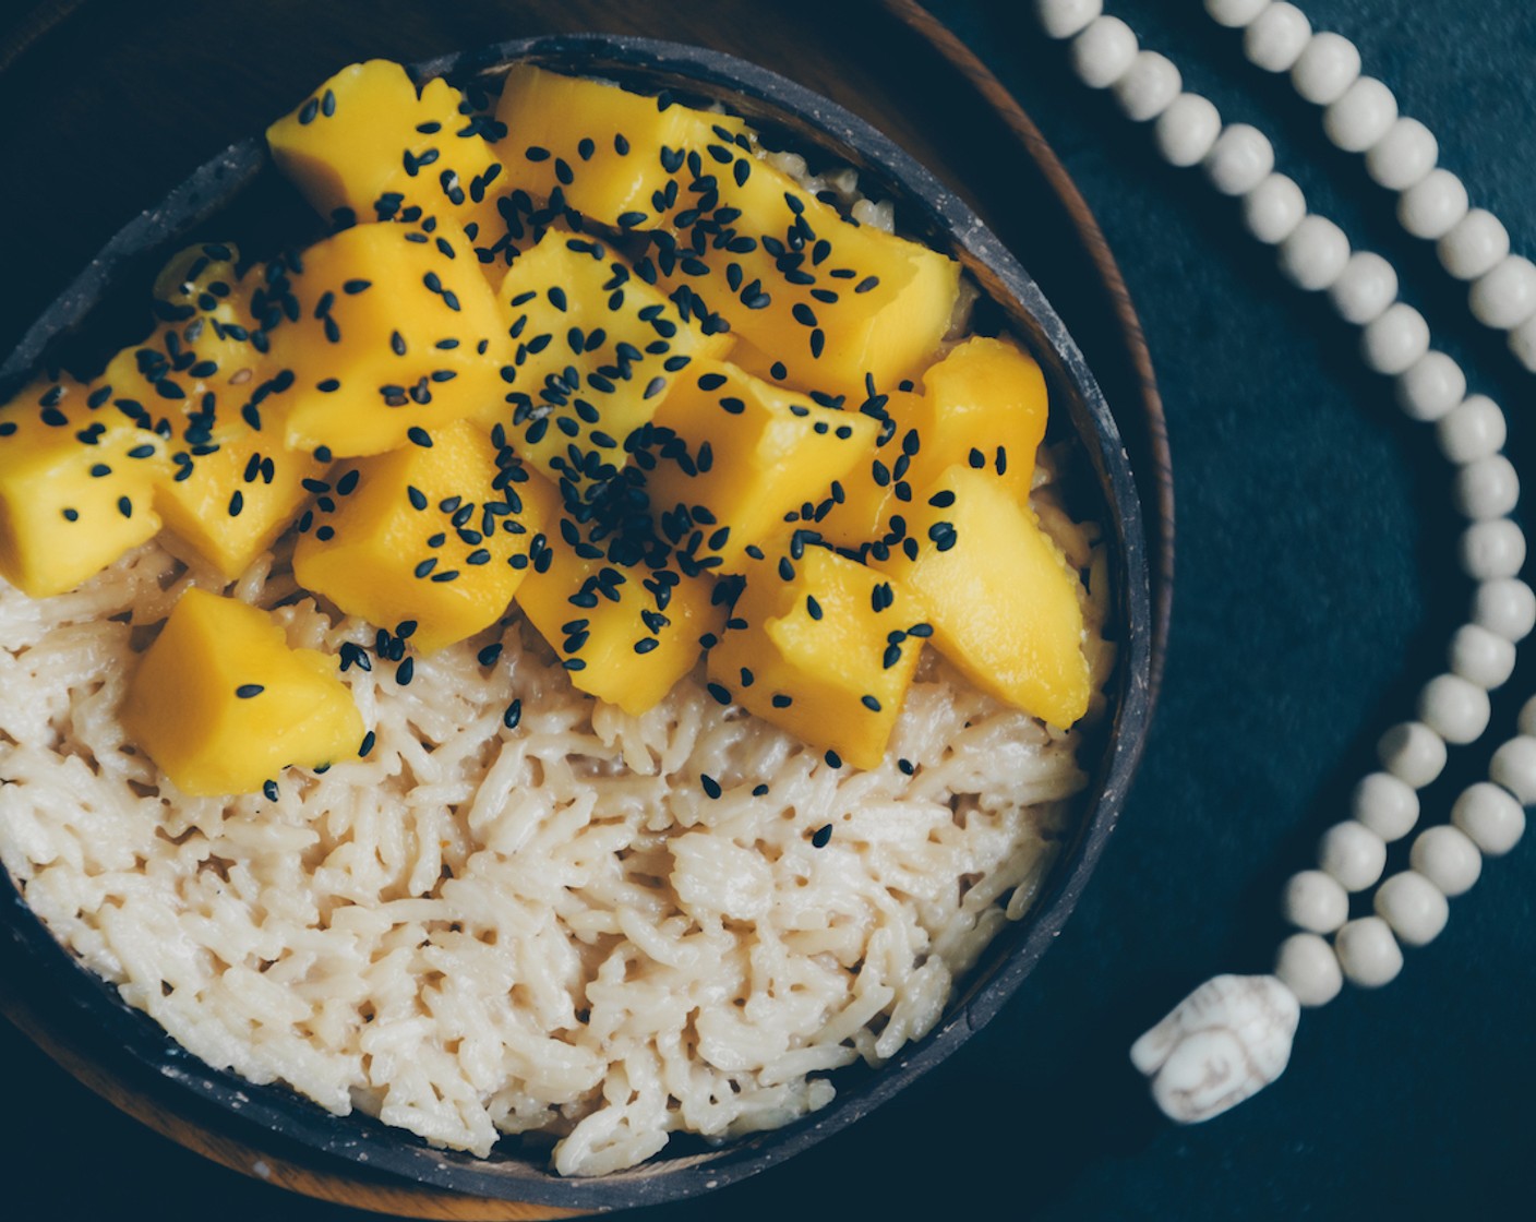
<path id="1" fill-rule="evenodd" d="M 1361 75 L 1355 45 L 1315 34 L 1283 0 L 1204 3 L 1217 23 L 1243 31 L 1253 65 L 1289 72 L 1296 92 L 1322 108 L 1329 140 L 1362 154 L 1372 180 L 1398 192 L 1402 227 L 1438 243 L 1441 266 L 1470 283 L 1471 314 L 1507 332 L 1510 350 L 1536 372 L 1536 264 L 1511 255 L 1499 218 L 1470 208 L 1461 180 L 1436 168 L 1435 134 L 1399 115 L 1385 85 Z M 1327 1004 L 1346 979 L 1362 988 L 1392 981 L 1402 970 L 1401 947 L 1433 941 L 1450 913 L 1447 898 L 1467 892 L 1482 858 L 1507 853 L 1525 832 L 1524 807 L 1536 804 L 1536 696 L 1521 709 L 1519 733 L 1493 753 L 1490 779 L 1456 798 L 1448 824 L 1418 835 L 1410 868 L 1376 887 L 1373 916 L 1349 919 L 1349 893 L 1378 884 L 1387 844 L 1418 822 L 1418 790 L 1445 767 L 1447 744 L 1475 742 L 1487 730 L 1488 692 L 1508 681 L 1514 646 L 1536 627 L 1536 593 L 1518 576 L 1525 535 L 1508 516 L 1519 477 L 1502 453 L 1504 412 L 1485 395 L 1468 395 L 1461 366 L 1430 347 L 1424 317 L 1396 300 L 1393 266 L 1352 252 L 1342 229 L 1307 211 L 1301 188 L 1275 172 L 1261 131 L 1223 126 L 1207 98 L 1184 92 L 1167 57 L 1143 51 L 1124 22 L 1104 15 L 1103 0 L 1037 0 L 1035 9 L 1049 37 L 1071 38 L 1084 85 L 1112 89 L 1127 118 L 1152 123 L 1164 160 L 1200 164 L 1217 191 L 1241 198 L 1249 232 L 1276 247 L 1281 272 L 1301 289 L 1327 292 L 1338 315 L 1361 329 L 1366 364 L 1396 380 L 1409 418 L 1435 426 L 1441 453 L 1456 467 L 1455 506 L 1468 520 L 1459 563 L 1478 589 L 1468 623 L 1450 639 L 1448 670 L 1424 684 L 1416 719 L 1378 741 L 1381 770 L 1356 785 L 1352 818 L 1322 833 L 1318 868 L 1286 884 L 1281 908 L 1299 931 L 1281 942 L 1273 975 L 1207 981 L 1130 1050 L 1164 1113 L 1206 1121 L 1279 1076 L 1301 1007 Z"/>

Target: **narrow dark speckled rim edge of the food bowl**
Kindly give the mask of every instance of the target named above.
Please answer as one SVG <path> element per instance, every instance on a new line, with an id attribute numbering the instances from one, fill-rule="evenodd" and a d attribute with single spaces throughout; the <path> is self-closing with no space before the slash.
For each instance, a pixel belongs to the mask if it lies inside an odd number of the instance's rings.
<path id="1" fill-rule="evenodd" d="M 1120 689 L 1107 753 L 1095 773 L 1097 799 L 1077 829 L 1071 847 L 1052 867 L 1051 882 L 1035 907 L 1020 921 L 1017 944 L 1006 959 L 922 1041 L 909 1045 L 879 1071 L 869 1073 L 822 1111 L 779 1130 L 751 1134 L 727 1144 L 719 1154 L 684 1156 L 642 1164 L 639 1168 L 593 1179 L 564 1179 L 553 1171 L 496 1173 L 498 1164 L 459 1151 L 433 1150 L 425 1142 L 353 1113 L 335 1117 L 283 1087 L 255 1087 L 223 1070 L 214 1070 L 170 1041 L 158 1025 L 131 1010 L 104 981 L 68 955 L 17 893 L 9 873 L 0 870 L 0 912 L 6 941 L 58 985 L 60 1001 L 84 1018 L 104 1038 L 112 1056 L 180 1084 L 215 1105 L 237 1125 L 278 1133 L 310 1151 L 392 1173 L 407 1180 L 447 1188 L 476 1197 L 519 1200 L 576 1210 L 639 1207 L 693 1196 L 745 1179 L 782 1162 L 800 1150 L 845 1128 L 860 1116 L 948 1058 L 971 1033 L 989 1022 L 1058 936 L 1114 830 L 1132 773 L 1140 759 L 1152 712 L 1149 686 L 1152 653 L 1152 607 L 1146 541 L 1140 501 L 1129 458 L 1104 397 L 1089 372 L 1066 326 L 1008 249 L 992 235 L 957 194 L 865 120 L 828 98 L 776 72 L 707 48 L 653 38 L 565 34 L 516 38 L 476 51 L 441 55 L 409 66 L 418 81 L 435 75 L 464 81 L 504 69 L 513 60 L 564 65 L 567 69 L 651 72 L 677 77 L 688 85 L 725 91 L 751 105 L 768 108 L 814 129 L 822 148 L 852 154 L 862 168 L 894 188 L 903 209 L 903 229 L 928 229 L 948 238 L 951 254 L 972 266 L 991 269 L 1008 292 L 1012 307 L 1038 327 L 1038 338 L 1077 397 L 1097 450 L 1089 458 L 1098 472 L 1106 509 L 1111 512 L 1117 553 L 1121 561 L 1120 612 L 1126 616 L 1118 639 Z M 240 141 L 194 171 L 172 189 L 158 208 L 129 221 L 92 258 L 0 366 L 0 387 L 15 386 L 38 367 L 55 340 L 86 318 L 112 281 L 114 271 L 138 254 L 186 234 L 253 183 L 270 164 L 266 141 L 257 135 Z M 911 206 L 920 224 L 911 224 Z M 1046 354 L 1037 354 L 1046 355 Z M 1078 435 L 1087 443 L 1083 420 Z M 1006 936 L 1006 931 L 1005 931 Z M 995 942 L 994 942 L 995 945 Z M 980 970 L 980 968 L 977 968 Z M 505 1167 L 507 1164 L 501 1164 Z"/>

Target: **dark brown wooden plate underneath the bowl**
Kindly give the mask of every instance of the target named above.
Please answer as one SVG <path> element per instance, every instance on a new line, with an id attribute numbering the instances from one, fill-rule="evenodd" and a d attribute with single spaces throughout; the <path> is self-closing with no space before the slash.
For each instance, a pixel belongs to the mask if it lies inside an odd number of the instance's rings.
<path id="1" fill-rule="evenodd" d="M 1017 103 L 966 49 L 906 0 L 826 6 L 746 0 L 611 5 L 458 3 L 452 6 L 301 5 L 252 9 L 160 5 L 154 29 L 131 5 L 78 0 L 25 14 L 0 43 L 0 115 L 12 155 L 35 172 L 8 184 L 0 249 L 46 244 L 49 275 L 14 284 L 0 301 L 0 344 L 31 318 L 135 211 L 152 204 L 197 163 L 260 129 L 339 65 L 369 55 L 419 60 L 542 32 L 642 34 L 714 46 L 817 89 L 882 128 L 955 188 L 1020 255 L 1084 349 L 1127 437 L 1143 478 L 1166 635 L 1172 500 L 1161 410 L 1124 284 L 1086 206 Z M 390 11 L 367 22 L 367 11 Z M 54 20 L 57 18 L 57 22 Z M 49 28 L 52 26 L 52 28 Z M 167 29 L 197 29 L 198 46 L 243 46 L 238 61 L 192 51 Z M 100 71 L 71 80 L 57 105 L 17 115 L 28 98 L 55 95 L 60 66 Z M 189 103 L 189 98 L 192 100 Z M 91 157 L 78 155 L 88 134 Z M 20 148 L 15 148 L 20 146 Z M 103 189 L 103 186 L 109 189 Z M 18 224 L 18 218 L 26 224 Z M 164 1082 L 104 1073 L 84 1038 L 51 1028 L 46 1007 L 8 993 L 0 1010 L 80 1081 L 174 1141 L 246 1174 L 324 1200 L 435 1219 L 531 1219 L 567 1210 L 476 1202 L 359 1174 L 284 1147 L 269 1134 L 210 1131 L 207 1117 Z M 75 1033 L 78 1036 L 78 1033 Z M 147 1074 L 146 1074 L 147 1078 Z"/>

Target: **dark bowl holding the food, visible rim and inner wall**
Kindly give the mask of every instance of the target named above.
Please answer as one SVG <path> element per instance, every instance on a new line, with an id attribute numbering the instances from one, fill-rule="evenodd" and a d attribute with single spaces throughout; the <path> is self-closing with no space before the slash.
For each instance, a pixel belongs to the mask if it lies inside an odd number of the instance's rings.
<path id="1" fill-rule="evenodd" d="M 1006 249 L 977 217 L 889 140 L 825 98 L 765 69 L 713 51 L 616 37 L 553 37 L 501 43 L 412 69 L 418 80 L 445 75 L 464 85 L 533 61 L 598 75 L 637 89 L 671 89 L 685 100 L 719 100 L 760 126 L 768 143 L 852 164 L 871 194 L 894 200 L 903 232 L 954 255 L 983 291 L 985 309 L 1021 337 L 1052 390 L 1055 427 L 1078 441 L 1086 515 L 1106 527 L 1112 573 L 1111 627 L 1118 661 L 1109 716 L 1084 745 L 1089 787 L 1077 799 L 1078 821 L 1032 910 L 991 944 L 945 1018 L 922 1041 L 880 1070 L 854 1067 L 834 1076 L 837 1097 L 822 1111 L 722 1145 L 674 1137 L 650 1162 L 596 1179 L 562 1179 L 542 1151 L 502 1142 L 490 1159 L 432 1148 L 370 1117 L 332 1116 L 281 1087 L 257 1087 L 212 1070 L 170 1042 L 158 1025 L 124 1005 L 115 990 L 78 967 L 31 915 L 9 879 L 5 899 L 6 958 L 12 979 L 35 981 L 37 1004 L 65 1027 L 94 1030 L 103 1065 L 174 1084 L 198 1124 L 229 1133 L 278 1134 L 286 1144 L 333 1164 L 475 1197 L 565 1210 L 607 1210 L 691 1196 L 739 1180 L 803 1150 L 889 1099 L 951 1054 L 991 1021 L 1060 931 L 1118 816 L 1150 715 L 1152 610 L 1141 515 L 1124 449 L 1092 375 L 1060 318 Z M 127 224 L 23 337 L 0 367 L 9 393 L 40 364 L 100 364 L 94 349 L 114 323 L 132 317 L 141 286 L 174 249 L 223 232 L 250 235 L 252 247 L 312 234 L 316 221 L 275 174 L 260 138 L 206 163 L 155 209 Z M 1061 410 L 1064 409 L 1064 412 Z"/>

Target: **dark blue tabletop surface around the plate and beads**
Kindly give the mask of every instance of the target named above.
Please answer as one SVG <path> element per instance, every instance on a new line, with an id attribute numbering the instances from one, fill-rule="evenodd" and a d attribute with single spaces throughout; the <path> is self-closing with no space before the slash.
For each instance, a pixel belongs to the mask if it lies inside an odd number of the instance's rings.
<path id="1" fill-rule="evenodd" d="M 806 1217 L 1528 1216 L 1536 1188 L 1536 845 L 1487 864 L 1447 931 L 1401 979 L 1303 1019 L 1286 1076 L 1213 1124 L 1160 1122 L 1126 1061 L 1132 1038 L 1221 970 L 1267 970 L 1284 878 L 1347 816 L 1378 733 L 1442 666 L 1470 593 L 1453 560 L 1450 470 L 1430 432 L 1366 374 L 1355 332 L 1286 286 L 1240 209 L 1195 171 L 1158 163 L 1149 132 L 1077 85 L 1025 3 L 934 0 L 1031 112 L 1097 212 L 1140 307 L 1177 469 L 1178 578 L 1163 702 L 1123 827 L 1060 945 L 1001 1018 L 894 1104 L 790 1165 L 636 1222 Z M 1510 412 L 1530 460 L 1530 375 L 1465 317 L 1432 249 L 1404 237 L 1359 158 L 1318 112 L 1249 66 L 1198 0 L 1115 0 L 1147 46 L 1230 120 L 1276 143 L 1279 169 L 1358 246 L 1393 258 L 1436 344 Z M 1441 140 L 1441 163 L 1536 251 L 1536 9 L 1527 0 L 1313 0 L 1319 28 Z M 877 48 L 871 49 L 877 54 Z M 1044 284 L 1051 292 L 1051 284 Z M 1536 466 L 1524 461 L 1527 472 Z M 1522 650 L 1528 653 L 1528 650 Z M 1453 755 L 1425 795 L 1513 733 L 1522 656 L 1488 742 Z M 1399 847 L 1399 855 L 1405 852 Z M 1396 856 L 1395 856 L 1396 861 Z M 0 1054 L 18 1050 L 0 1031 Z M 29 1058 L 35 1059 L 35 1058 Z M 51 1068 L 28 1068 L 8 1199 L 34 1216 L 339 1219 L 143 1133 Z M 0 1085 L 0 1093 L 9 1091 Z M 78 1111 L 77 1111 L 78 1110 Z M 60 1134 L 89 1128 L 78 1153 Z M 91 1147 L 115 1153 L 106 1164 Z M 101 1165 L 104 1174 L 92 1174 Z"/>

